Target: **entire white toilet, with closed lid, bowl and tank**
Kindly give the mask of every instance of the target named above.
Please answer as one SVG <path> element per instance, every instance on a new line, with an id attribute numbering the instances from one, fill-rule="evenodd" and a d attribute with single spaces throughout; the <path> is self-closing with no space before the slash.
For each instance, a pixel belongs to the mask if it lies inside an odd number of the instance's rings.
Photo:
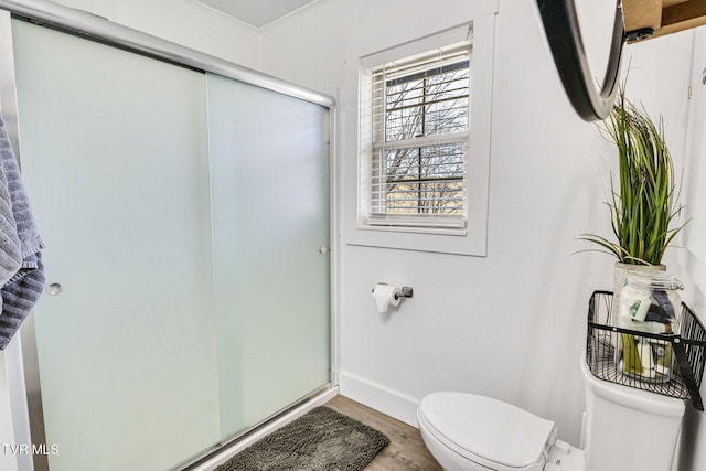
<path id="1" fill-rule="evenodd" d="M 425 445 L 447 471 L 668 470 L 684 400 L 598 379 L 582 358 L 582 449 L 558 440 L 550 420 L 454 392 L 421 399 L 417 420 Z"/>

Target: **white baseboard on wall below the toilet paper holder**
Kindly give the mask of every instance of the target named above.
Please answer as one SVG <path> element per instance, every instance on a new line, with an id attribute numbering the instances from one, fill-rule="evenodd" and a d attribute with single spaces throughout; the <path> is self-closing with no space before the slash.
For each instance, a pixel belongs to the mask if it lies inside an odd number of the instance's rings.
<path id="1" fill-rule="evenodd" d="M 344 372 L 339 377 L 339 388 L 342 396 L 418 428 L 417 399 Z"/>

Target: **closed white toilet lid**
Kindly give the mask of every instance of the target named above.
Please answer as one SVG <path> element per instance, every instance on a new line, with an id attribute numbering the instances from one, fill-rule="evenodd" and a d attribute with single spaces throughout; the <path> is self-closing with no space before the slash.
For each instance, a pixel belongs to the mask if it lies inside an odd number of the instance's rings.
<path id="1" fill-rule="evenodd" d="M 421 399 L 420 417 L 437 439 L 473 459 L 523 468 L 542 458 L 554 422 L 490 397 L 432 393 Z"/>

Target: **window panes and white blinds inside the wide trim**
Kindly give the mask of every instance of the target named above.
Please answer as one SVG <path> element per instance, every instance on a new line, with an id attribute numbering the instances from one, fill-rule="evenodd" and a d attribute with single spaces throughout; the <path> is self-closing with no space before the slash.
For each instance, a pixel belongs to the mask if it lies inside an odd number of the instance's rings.
<path id="1" fill-rule="evenodd" d="M 470 61 L 462 42 L 370 71 L 368 224 L 466 227 Z"/>

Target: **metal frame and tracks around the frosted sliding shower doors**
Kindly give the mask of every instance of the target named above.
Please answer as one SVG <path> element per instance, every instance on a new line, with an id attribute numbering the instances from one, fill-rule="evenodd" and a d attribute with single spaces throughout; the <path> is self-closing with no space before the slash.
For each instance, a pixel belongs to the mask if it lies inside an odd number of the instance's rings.
<path id="1" fill-rule="evenodd" d="M 334 189 L 336 186 L 335 175 L 338 173 L 335 159 L 338 117 L 336 113 L 333 113 L 336 108 L 335 98 L 128 26 L 113 23 L 106 18 L 45 0 L 0 0 L 0 109 L 2 110 L 10 141 L 15 150 L 15 157 L 20 165 L 22 159 L 19 142 L 17 85 L 12 50 L 12 18 L 30 21 L 34 24 L 74 34 L 89 41 L 97 41 L 106 45 L 141 54 L 153 60 L 168 62 L 173 65 L 183 66 L 203 73 L 222 75 L 227 78 L 236 79 L 329 108 L 332 111 L 330 119 L 331 204 L 332 207 L 336 207 L 338 199 L 335 197 Z M 331 216 L 331 234 L 335 234 L 333 228 L 338 225 L 336 221 L 338 218 L 335 214 L 333 214 Z M 332 251 L 338 253 L 338 240 L 332 239 L 331 245 Z M 287 409 L 274 414 L 270 418 L 247 430 L 242 436 L 232 437 L 231 439 L 220 443 L 220 446 L 204 450 L 201 457 L 194 457 L 194 459 L 189 462 L 182 463 L 180 465 L 181 468 L 175 469 L 184 469 L 183 467 L 185 465 L 188 469 L 196 470 L 200 469 L 199 464 L 203 464 L 204 461 L 208 461 L 208 458 L 222 456 L 221 453 L 234 453 L 236 452 L 234 450 L 239 450 L 243 447 L 242 443 L 239 443 L 240 441 L 247 442 L 249 437 L 267 432 L 271 424 L 280 424 L 281 426 L 281 421 L 287 420 L 287 417 L 290 417 L 290 419 L 296 418 L 296 416 L 303 414 L 302 410 L 314 407 L 323 400 L 328 400 L 332 397 L 332 394 L 338 394 L 338 334 L 334 314 L 336 311 L 335 307 L 338 306 L 338 297 L 335 296 L 336 291 L 333 288 L 338 282 L 339 274 L 335 269 L 338 264 L 334 260 L 335 258 L 332 258 L 330 281 L 330 286 L 332 288 L 330 351 L 331 382 L 307 397 L 301 398 Z M 21 347 L 18 349 L 17 352 L 13 351 L 13 349 L 8 349 L 6 351 L 6 361 L 9 358 L 9 362 L 17 362 L 22 365 L 21 367 L 23 368 L 24 378 L 21 379 L 24 381 L 21 386 L 15 386 L 14 394 L 15 396 L 21 394 L 24 396 L 24 399 L 26 399 L 26 404 L 22 405 L 22 407 L 26 407 L 24 408 L 24 413 L 28 414 L 30 419 L 30 424 L 28 424 L 30 430 L 29 433 L 25 432 L 26 426 L 21 421 L 21 419 L 18 421 L 15 417 L 13 417 L 12 420 L 12 428 L 15 432 L 22 435 L 22 438 L 31 438 L 31 442 L 45 443 L 46 437 L 44 432 L 44 419 L 41 403 L 41 386 L 39 384 L 39 360 L 36 354 L 33 314 L 30 314 L 25 320 L 20 332 L 20 336 L 21 342 L 19 343 L 21 343 Z M 30 386 L 26 387 L 25 383 Z M 13 385 L 10 385 L 10 388 L 12 389 Z M 18 406 L 18 400 L 19 399 L 15 397 L 13 400 L 13 407 Z M 19 469 L 24 468 L 20 467 Z M 34 456 L 33 469 L 35 471 L 49 470 L 46 456 Z"/>

